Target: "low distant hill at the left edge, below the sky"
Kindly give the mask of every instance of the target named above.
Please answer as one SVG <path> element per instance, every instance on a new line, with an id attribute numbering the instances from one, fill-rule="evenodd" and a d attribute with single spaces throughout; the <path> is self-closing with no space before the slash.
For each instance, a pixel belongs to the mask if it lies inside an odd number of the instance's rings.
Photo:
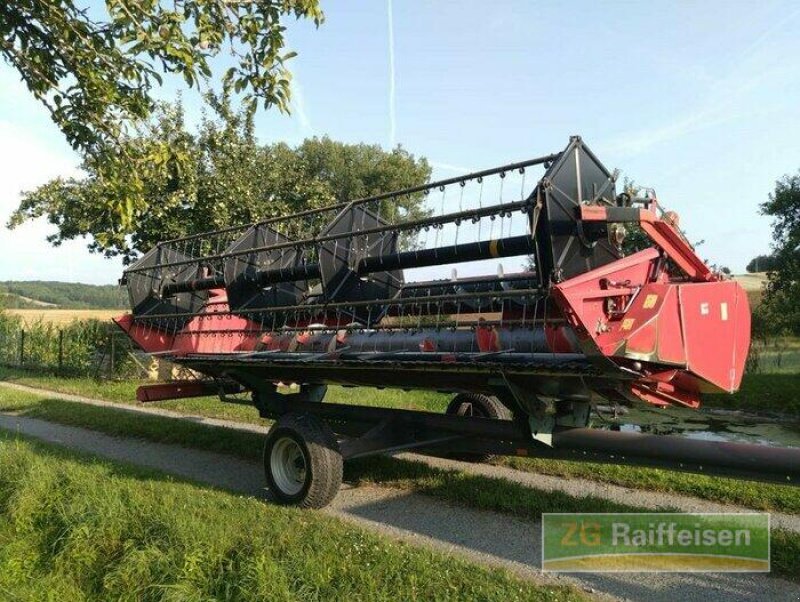
<path id="1" fill-rule="evenodd" d="M 116 309 L 126 306 L 114 284 L 81 284 L 41 280 L 0 282 L 0 305 L 18 309 Z"/>

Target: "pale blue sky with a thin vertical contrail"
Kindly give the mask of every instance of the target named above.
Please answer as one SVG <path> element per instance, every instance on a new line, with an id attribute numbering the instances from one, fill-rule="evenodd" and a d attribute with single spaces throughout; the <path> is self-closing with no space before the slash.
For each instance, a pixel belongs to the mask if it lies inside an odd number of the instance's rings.
<path id="1" fill-rule="evenodd" d="M 743 271 L 770 243 L 758 204 L 800 169 L 796 2 L 324 2 L 289 26 L 291 116 L 262 141 L 327 134 L 402 144 L 436 177 L 562 148 L 579 134 L 607 167 L 655 188 L 701 254 Z M 160 92 L 169 99 L 177 88 Z M 196 93 L 184 93 L 196 118 Z M 60 132 L 0 64 L 0 219 L 20 190 L 78 175 Z M 119 262 L 46 223 L 0 231 L 0 280 L 110 283 Z"/>

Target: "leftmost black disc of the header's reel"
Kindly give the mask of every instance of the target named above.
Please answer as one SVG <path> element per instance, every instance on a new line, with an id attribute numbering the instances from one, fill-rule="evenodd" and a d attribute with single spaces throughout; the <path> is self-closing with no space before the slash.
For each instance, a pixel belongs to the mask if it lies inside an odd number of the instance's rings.
<path id="1" fill-rule="evenodd" d="M 199 261 L 168 245 L 151 249 L 127 272 L 128 295 L 136 316 L 162 330 L 183 328 L 205 304 L 206 291 L 187 291 L 163 297 L 166 285 L 192 282 L 202 278 Z M 191 261 L 190 263 L 184 263 Z M 162 264 L 175 264 L 167 265 Z M 149 317 L 152 316 L 152 317 Z"/>

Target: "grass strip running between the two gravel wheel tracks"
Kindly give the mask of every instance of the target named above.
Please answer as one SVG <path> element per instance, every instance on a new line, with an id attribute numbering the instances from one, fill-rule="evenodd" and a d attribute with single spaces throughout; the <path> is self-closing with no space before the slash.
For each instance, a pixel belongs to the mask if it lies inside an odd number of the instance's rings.
<path id="1" fill-rule="evenodd" d="M 112 435 L 139 437 L 160 443 L 228 453 L 249 460 L 260 459 L 262 437 L 255 433 L 210 427 L 179 419 L 133 414 L 58 399 L 43 399 L 41 396 L 19 391 L 0 391 L 0 399 L 2 399 L 0 411 L 20 412 L 29 417 Z M 619 470 L 628 471 L 630 468 L 619 467 Z M 703 478 L 711 479 L 711 477 Z M 469 475 L 383 456 L 348 462 L 345 465 L 345 479 L 357 485 L 371 483 L 401 488 L 466 507 L 533 520 L 539 520 L 543 512 L 646 510 L 599 497 L 576 497 L 559 491 L 530 488 L 504 479 Z M 731 486 L 746 485 L 738 481 L 730 483 Z M 759 484 L 758 489 L 753 490 L 753 494 L 759 491 L 763 493 L 766 489 L 786 490 L 781 493 L 787 496 L 793 494 L 795 498 L 789 498 L 793 501 L 800 495 L 796 488 L 763 484 Z M 776 574 L 800 579 L 800 534 L 773 529 L 772 562 Z"/>

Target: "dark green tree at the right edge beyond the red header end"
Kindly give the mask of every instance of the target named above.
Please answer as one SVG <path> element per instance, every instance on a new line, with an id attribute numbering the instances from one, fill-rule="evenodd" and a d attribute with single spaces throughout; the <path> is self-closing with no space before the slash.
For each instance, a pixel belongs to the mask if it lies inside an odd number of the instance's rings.
<path id="1" fill-rule="evenodd" d="M 761 213 L 773 218 L 772 258 L 765 309 L 775 326 L 800 333 L 800 172 L 775 183 L 775 191 L 761 205 Z"/>

